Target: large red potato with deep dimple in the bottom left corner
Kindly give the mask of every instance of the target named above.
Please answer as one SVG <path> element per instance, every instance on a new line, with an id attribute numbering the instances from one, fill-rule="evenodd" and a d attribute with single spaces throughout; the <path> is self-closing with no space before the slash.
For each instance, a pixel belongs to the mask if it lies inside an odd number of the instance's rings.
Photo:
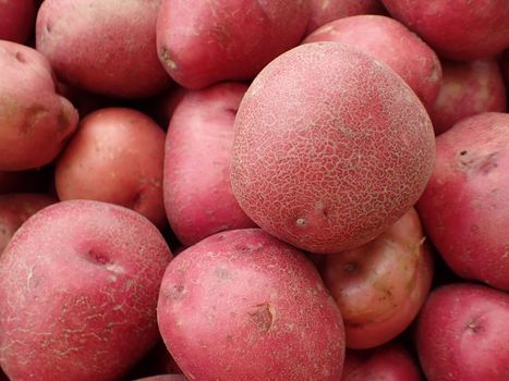
<path id="1" fill-rule="evenodd" d="M 158 339 L 171 253 L 123 207 L 73 200 L 29 218 L 0 257 L 0 366 L 11 380 L 114 380 Z"/>

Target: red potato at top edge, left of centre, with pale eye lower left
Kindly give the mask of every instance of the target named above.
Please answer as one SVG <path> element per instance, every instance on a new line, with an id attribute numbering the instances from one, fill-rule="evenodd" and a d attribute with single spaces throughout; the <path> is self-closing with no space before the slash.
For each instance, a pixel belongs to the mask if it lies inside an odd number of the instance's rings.
<path id="1" fill-rule="evenodd" d="M 157 22 L 161 63 L 180 85 L 252 79 L 296 46 L 310 17 L 308 1 L 162 0 Z"/>

